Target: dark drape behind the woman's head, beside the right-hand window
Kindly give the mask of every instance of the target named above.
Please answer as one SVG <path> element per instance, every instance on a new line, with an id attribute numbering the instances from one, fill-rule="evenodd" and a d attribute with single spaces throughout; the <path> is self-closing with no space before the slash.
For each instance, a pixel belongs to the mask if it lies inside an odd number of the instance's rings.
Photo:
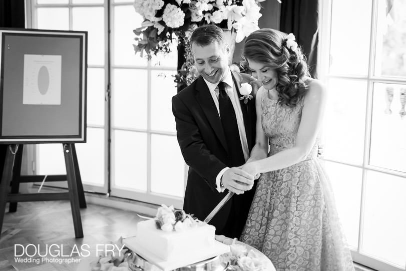
<path id="1" fill-rule="evenodd" d="M 317 78 L 319 0 L 282 0 L 280 31 L 293 33 L 310 66 L 310 74 Z"/>

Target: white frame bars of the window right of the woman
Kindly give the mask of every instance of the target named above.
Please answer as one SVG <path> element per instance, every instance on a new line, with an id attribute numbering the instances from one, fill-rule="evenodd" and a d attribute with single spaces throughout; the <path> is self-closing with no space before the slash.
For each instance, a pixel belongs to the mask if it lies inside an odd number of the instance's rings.
<path id="1" fill-rule="evenodd" d="M 366 193 L 366 172 L 375 171 L 392 176 L 403 177 L 406 180 L 406 173 L 400 172 L 392 169 L 382 168 L 378 166 L 369 165 L 370 156 L 370 146 L 371 146 L 371 128 L 372 128 L 372 102 L 373 102 L 373 85 L 375 83 L 389 83 L 389 84 L 406 84 L 406 78 L 400 77 L 389 77 L 389 76 L 375 76 L 375 49 L 376 49 L 376 35 L 377 35 L 377 3 L 379 0 L 372 0 L 371 9 L 371 29 L 370 29 L 370 41 L 369 41 L 369 57 L 368 57 L 368 73 L 366 76 L 349 76 L 341 74 L 333 74 L 329 71 L 329 54 L 330 54 L 330 43 L 331 43 L 331 16 L 332 16 L 332 1 L 320 1 L 319 14 L 320 14 L 320 50 L 318 52 L 318 74 L 320 75 L 320 80 L 325 83 L 328 90 L 328 81 L 331 78 L 337 79 L 351 79 L 351 80 L 361 80 L 367 83 L 367 93 L 366 93 L 366 115 L 365 115 L 365 131 L 364 131 L 364 151 L 362 158 L 362 165 L 357 165 L 353 163 L 346 163 L 343 161 L 338 161 L 334 159 L 325 159 L 324 161 L 337 163 L 341 165 L 352 166 L 362 169 L 362 180 L 361 180 L 361 197 L 360 197 L 360 219 L 358 226 L 358 244 L 357 250 L 351 249 L 351 255 L 354 262 L 361 263 L 365 266 L 375 268 L 377 270 L 387 270 L 387 271 L 401 271 L 406 270 L 401 266 L 395 266 L 389 262 L 381 259 L 374 258 L 373 256 L 362 253 L 362 240 L 363 240 L 363 217 L 365 208 L 365 193 Z M 335 0 L 337 1 L 337 0 Z"/>

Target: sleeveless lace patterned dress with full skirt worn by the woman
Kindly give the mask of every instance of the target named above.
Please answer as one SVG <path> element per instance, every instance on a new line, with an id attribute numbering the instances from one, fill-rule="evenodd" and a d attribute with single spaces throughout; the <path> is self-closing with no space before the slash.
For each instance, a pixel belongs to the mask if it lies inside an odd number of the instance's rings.
<path id="1" fill-rule="evenodd" d="M 271 156 L 295 144 L 303 99 L 282 106 L 258 91 Z M 319 139 L 305 161 L 261 174 L 241 240 L 267 255 L 276 270 L 354 270 L 324 169 Z"/>

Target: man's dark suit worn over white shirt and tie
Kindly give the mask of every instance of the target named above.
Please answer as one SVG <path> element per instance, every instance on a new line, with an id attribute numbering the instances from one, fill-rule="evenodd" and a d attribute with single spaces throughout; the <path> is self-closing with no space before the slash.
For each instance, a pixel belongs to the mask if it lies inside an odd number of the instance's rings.
<path id="1" fill-rule="evenodd" d="M 234 86 L 239 97 L 241 83 L 249 82 L 249 76 L 232 72 Z M 253 91 L 254 92 L 254 91 Z M 252 93 L 254 94 L 254 93 Z M 255 145 L 255 99 L 247 104 L 240 100 L 248 149 Z M 172 98 L 172 111 L 183 158 L 189 167 L 183 208 L 203 220 L 227 194 L 216 190 L 217 174 L 227 164 L 227 139 L 213 98 L 202 77 Z M 241 165 L 245 161 L 241 161 Z M 233 198 L 214 216 L 210 224 L 216 234 L 239 237 L 251 205 L 255 186 Z"/>

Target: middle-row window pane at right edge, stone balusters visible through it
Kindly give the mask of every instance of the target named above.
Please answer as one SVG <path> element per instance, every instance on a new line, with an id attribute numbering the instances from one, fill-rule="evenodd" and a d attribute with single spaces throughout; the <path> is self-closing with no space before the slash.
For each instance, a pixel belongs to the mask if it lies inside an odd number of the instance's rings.
<path id="1" fill-rule="evenodd" d="M 406 85 L 375 83 L 369 164 L 406 172 Z"/>

